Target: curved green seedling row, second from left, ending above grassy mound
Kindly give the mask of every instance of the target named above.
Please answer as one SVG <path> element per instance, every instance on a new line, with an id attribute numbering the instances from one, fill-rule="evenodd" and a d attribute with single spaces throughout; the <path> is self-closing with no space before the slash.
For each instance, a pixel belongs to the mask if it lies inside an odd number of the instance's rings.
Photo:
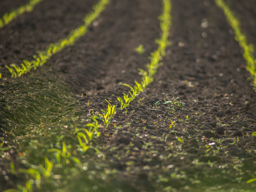
<path id="1" fill-rule="evenodd" d="M 84 17 L 84 25 L 81 25 L 77 27 L 75 30 L 71 31 L 68 37 L 62 39 L 60 42 L 55 44 L 51 43 L 46 48 L 46 51 L 38 51 L 38 56 L 34 56 L 33 61 L 29 62 L 28 60 L 23 60 L 21 66 L 17 66 L 16 64 L 11 64 L 10 67 L 6 66 L 9 72 L 11 73 L 11 77 L 20 77 L 21 75 L 29 72 L 31 69 L 36 69 L 39 66 L 42 66 L 54 54 L 60 52 L 67 46 L 73 45 L 80 37 L 86 34 L 87 28 L 100 15 L 100 13 L 104 11 L 108 3 L 109 0 L 99 1 L 96 5 L 92 7 L 93 11 Z"/>

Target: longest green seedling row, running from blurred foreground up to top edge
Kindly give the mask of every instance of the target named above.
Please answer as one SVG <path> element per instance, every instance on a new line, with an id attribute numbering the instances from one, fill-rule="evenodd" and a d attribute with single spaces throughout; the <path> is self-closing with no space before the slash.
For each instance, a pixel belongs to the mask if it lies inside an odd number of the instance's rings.
<path id="1" fill-rule="evenodd" d="M 102 3 L 103 1 L 101 1 Z M 106 3 L 108 1 L 104 1 Z M 131 93 L 131 100 L 133 100 L 139 93 L 142 93 L 144 89 L 148 86 L 153 81 L 153 75 L 157 72 L 159 62 L 161 61 L 162 57 L 165 56 L 165 48 L 167 45 L 170 43 L 168 42 L 168 36 L 169 36 L 169 30 L 171 26 L 171 16 L 170 16 L 170 11 L 171 11 L 171 3 L 170 0 L 162 0 L 163 2 L 163 10 L 162 14 L 159 16 L 160 22 L 160 27 L 162 30 L 161 38 L 156 40 L 158 44 L 158 49 L 155 50 L 153 53 L 151 53 L 150 57 L 150 64 L 147 65 L 147 72 L 139 69 L 140 72 L 142 73 L 142 82 L 138 83 L 135 81 L 135 87 L 132 88 L 129 86 L 134 93 Z M 99 4 L 98 4 L 99 5 Z M 100 4 L 102 5 L 102 4 Z M 97 7 L 97 6 L 95 6 Z M 90 22 L 94 20 L 95 17 L 91 17 Z M 87 24 L 89 25 L 89 22 L 87 21 Z M 125 94 L 124 94 L 125 95 Z M 107 101 L 108 102 L 108 101 Z M 126 104 L 127 105 L 127 104 Z M 124 107 L 123 107 L 124 108 Z M 122 109 L 123 109 L 122 108 Z M 108 108 L 106 111 L 101 110 L 102 114 L 91 114 L 91 123 L 87 123 L 85 125 L 86 128 L 80 128 L 76 127 L 74 125 L 73 127 L 73 134 L 76 135 L 77 140 L 78 140 L 78 148 L 76 149 L 80 153 L 85 153 L 89 149 L 93 149 L 96 151 L 97 154 L 100 154 L 97 148 L 92 146 L 92 139 L 94 137 L 99 137 L 100 132 L 98 131 L 100 126 L 103 126 L 102 123 L 105 124 L 105 126 L 108 126 L 108 124 L 111 122 L 113 119 L 114 115 L 116 114 L 116 105 L 111 105 L 108 102 Z M 75 121 L 75 120 L 73 120 Z M 42 180 L 46 181 L 49 183 L 49 180 L 53 176 L 53 171 L 54 168 L 61 168 L 63 166 L 69 165 L 71 162 L 75 164 L 77 168 L 82 167 L 82 163 L 77 157 L 74 157 L 71 153 L 71 145 L 66 145 L 65 142 L 62 142 L 62 147 L 60 146 L 61 144 L 58 143 L 59 147 L 58 148 L 51 148 L 48 149 L 48 157 L 45 156 L 44 159 L 44 165 L 40 164 L 38 165 L 30 165 L 27 163 L 27 165 L 30 167 L 29 169 L 18 169 L 15 170 L 14 164 L 10 164 L 10 169 L 13 174 L 17 173 L 24 173 L 29 175 L 29 180 L 26 183 L 26 186 L 18 186 L 18 190 L 16 189 L 10 189 L 5 192 L 18 192 L 18 191 L 23 191 L 23 192 L 32 192 L 33 191 L 33 186 L 36 188 L 41 188 L 42 186 Z M 52 157 L 51 154 L 54 154 L 55 158 L 51 159 Z"/>

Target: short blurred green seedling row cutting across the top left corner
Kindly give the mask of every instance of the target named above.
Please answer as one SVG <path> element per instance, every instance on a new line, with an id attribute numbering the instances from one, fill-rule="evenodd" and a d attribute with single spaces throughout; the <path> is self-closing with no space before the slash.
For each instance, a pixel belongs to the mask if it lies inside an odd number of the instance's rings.
<path id="1" fill-rule="evenodd" d="M 34 7 L 42 1 L 44 0 L 30 0 L 28 4 L 22 5 L 10 13 L 5 13 L 4 16 L 0 18 L 0 28 L 3 28 L 23 13 L 32 11 Z"/>

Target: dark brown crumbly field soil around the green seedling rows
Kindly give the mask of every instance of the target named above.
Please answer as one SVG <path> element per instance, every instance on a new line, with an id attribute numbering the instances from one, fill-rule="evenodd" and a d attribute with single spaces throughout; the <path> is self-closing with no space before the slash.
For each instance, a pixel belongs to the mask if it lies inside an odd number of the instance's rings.
<path id="1" fill-rule="evenodd" d="M 227 3 L 256 46 L 255 2 Z M 145 69 L 160 37 L 160 0 L 112 0 L 74 46 L 36 71 L 10 77 L 5 65 L 31 60 L 36 50 L 65 38 L 93 4 L 45 0 L 0 30 L 0 191 L 25 185 L 10 162 L 16 170 L 44 164 L 45 156 L 54 159 L 46 149 L 62 141 L 83 166 L 57 167 L 35 191 L 255 191 L 256 183 L 246 181 L 256 176 L 256 93 L 213 0 L 172 0 L 172 46 L 145 93 L 101 126 L 93 140 L 100 154 L 75 152 L 74 127 L 105 110 L 105 99 L 120 107 L 117 97 L 128 91 L 122 83 L 141 81 L 137 68 Z M 19 4 L 3 5 L 1 14 Z M 142 55 L 133 49 L 139 44 Z M 177 97 L 182 108 L 164 105 Z"/>

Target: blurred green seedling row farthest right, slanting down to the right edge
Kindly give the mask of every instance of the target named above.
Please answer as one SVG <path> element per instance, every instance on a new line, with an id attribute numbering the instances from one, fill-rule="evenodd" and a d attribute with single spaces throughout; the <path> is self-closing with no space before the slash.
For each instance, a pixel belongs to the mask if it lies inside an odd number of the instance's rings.
<path id="1" fill-rule="evenodd" d="M 229 25 L 234 30 L 235 39 L 236 41 L 239 42 L 239 45 L 243 50 L 243 57 L 247 62 L 246 69 L 250 72 L 251 74 L 250 78 L 254 80 L 253 86 L 254 86 L 254 89 L 256 89 L 256 70 L 255 70 L 256 59 L 253 56 L 254 47 L 252 44 L 248 44 L 248 40 L 246 36 L 242 33 L 242 30 L 240 28 L 241 24 L 239 20 L 233 14 L 230 8 L 223 2 L 223 0 L 215 0 L 215 3 L 217 6 L 219 6 L 223 10 Z"/>

